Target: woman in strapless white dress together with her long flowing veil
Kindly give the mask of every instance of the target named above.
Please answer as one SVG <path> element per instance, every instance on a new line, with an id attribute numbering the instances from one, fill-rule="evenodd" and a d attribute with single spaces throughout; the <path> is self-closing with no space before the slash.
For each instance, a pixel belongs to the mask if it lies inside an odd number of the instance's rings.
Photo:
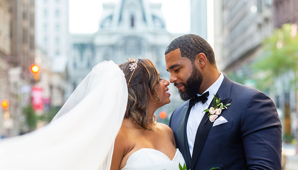
<path id="1" fill-rule="evenodd" d="M 153 120 L 170 102 L 169 82 L 148 59 L 120 67 L 97 64 L 51 123 L 0 140 L 0 169 L 178 170 L 173 132 Z"/>

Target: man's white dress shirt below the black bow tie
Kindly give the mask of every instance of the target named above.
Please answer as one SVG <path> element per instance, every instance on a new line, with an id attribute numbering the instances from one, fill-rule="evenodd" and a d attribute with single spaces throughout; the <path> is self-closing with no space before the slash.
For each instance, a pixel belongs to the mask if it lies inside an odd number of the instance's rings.
<path id="1" fill-rule="evenodd" d="M 209 91 L 209 96 L 207 97 L 208 100 L 204 104 L 202 102 L 196 103 L 190 110 L 190 114 L 186 125 L 186 134 L 191 156 L 193 156 L 193 144 L 195 143 L 195 134 L 197 133 L 197 129 L 205 113 L 203 111 L 205 109 L 208 109 L 210 103 L 213 101 L 214 95 L 217 93 L 223 80 L 224 75 L 221 73 L 219 78 L 205 91 Z"/>

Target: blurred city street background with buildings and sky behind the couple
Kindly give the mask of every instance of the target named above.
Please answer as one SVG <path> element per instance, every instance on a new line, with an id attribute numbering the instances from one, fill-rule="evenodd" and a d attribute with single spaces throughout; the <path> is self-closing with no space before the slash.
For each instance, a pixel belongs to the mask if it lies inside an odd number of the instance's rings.
<path id="1" fill-rule="evenodd" d="M 297 32 L 298 0 L 0 0 L 0 140 L 51 122 L 102 61 L 148 58 L 169 80 L 167 46 L 196 34 L 218 71 L 271 98 L 284 170 L 298 170 Z M 154 113 L 164 124 L 185 102 L 168 88 Z"/>

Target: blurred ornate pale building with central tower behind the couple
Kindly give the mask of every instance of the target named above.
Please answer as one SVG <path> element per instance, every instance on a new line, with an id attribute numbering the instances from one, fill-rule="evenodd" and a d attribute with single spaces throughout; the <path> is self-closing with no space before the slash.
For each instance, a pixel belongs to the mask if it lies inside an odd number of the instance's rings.
<path id="1" fill-rule="evenodd" d="M 94 34 L 72 35 L 72 57 L 69 60 L 69 76 L 73 88 L 83 80 L 91 68 L 104 60 L 116 64 L 127 62 L 126 58 L 149 58 L 167 80 L 164 52 L 170 42 L 178 37 L 166 29 L 161 4 L 148 0 L 121 0 L 119 3 L 103 4 L 103 13 Z M 182 101 L 170 88 L 175 105 Z M 163 109 L 172 112 L 172 108 Z M 157 111 L 158 112 L 158 111 Z"/>

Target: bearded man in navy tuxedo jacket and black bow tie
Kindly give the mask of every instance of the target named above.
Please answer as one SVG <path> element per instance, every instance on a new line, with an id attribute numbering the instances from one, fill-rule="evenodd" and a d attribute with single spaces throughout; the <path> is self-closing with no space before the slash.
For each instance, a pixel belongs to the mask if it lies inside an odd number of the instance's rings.
<path id="1" fill-rule="evenodd" d="M 165 62 L 187 101 L 169 123 L 187 169 L 281 170 L 281 123 L 268 96 L 218 72 L 212 47 L 198 35 L 173 40 Z M 203 111 L 215 107 L 214 95 L 227 109 L 211 119 Z"/>

